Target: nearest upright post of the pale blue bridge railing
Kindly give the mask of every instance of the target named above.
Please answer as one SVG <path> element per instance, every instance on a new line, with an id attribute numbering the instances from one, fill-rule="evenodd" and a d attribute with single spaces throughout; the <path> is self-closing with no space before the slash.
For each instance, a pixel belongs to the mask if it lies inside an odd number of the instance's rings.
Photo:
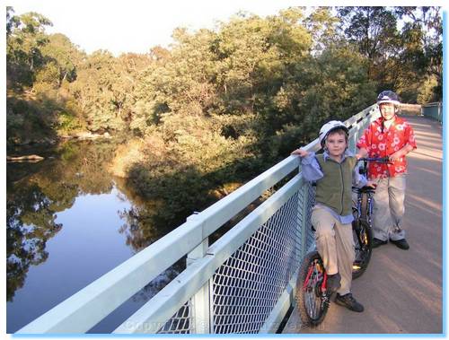
<path id="1" fill-rule="evenodd" d="M 192 214 L 187 218 L 187 221 L 191 221 L 197 218 L 197 214 Z M 198 259 L 205 257 L 207 254 L 208 239 L 203 240 L 197 248 L 194 248 L 187 255 L 187 266 L 192 265 Z M 201 289 L 192 296 L 192 316 L 194 324 L 195 334 L 209 334 L 210 333 L 210 282 L 208 280 Z"/>

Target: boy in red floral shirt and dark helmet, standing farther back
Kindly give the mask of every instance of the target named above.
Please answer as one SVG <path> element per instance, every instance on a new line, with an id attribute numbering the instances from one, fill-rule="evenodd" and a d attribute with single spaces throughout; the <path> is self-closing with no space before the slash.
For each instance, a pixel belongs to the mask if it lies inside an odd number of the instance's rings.
<path id="1" fill-rule="evenodd" d="M 407 173 L 407 153 L 417 148 L 413 129 L 397 116 L 400 101 L 396 93 L 383 91 L 377 97 L 381 118 L 366 128 L 357 142 L 362 157 L 389 157 L 390 162 L 371 162 L 369 179 L 377 184 L 373 209 L 373 248 L 390 240 L 401 249 L 409 249 L 401 229 Z"/>

